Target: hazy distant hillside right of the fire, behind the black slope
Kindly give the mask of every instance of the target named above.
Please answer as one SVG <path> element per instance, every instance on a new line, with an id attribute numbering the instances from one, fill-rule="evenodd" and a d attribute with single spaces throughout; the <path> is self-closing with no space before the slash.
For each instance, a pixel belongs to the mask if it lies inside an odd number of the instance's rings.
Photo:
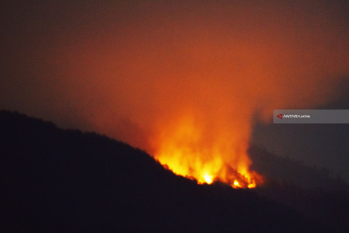
<path id="1" fill-rule="evenodd" d="M 257 146 L 249 149 L 252 169 L 266 176 L 255 189 L 339 232 L 349 231 L 349 185 L 325 168 L 308 167 Z"/>

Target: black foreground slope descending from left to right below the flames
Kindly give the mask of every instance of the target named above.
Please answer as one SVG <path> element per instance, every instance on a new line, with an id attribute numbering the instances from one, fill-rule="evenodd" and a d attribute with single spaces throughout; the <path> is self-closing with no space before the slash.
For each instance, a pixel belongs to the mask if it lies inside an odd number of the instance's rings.
<path id="1" fill-rule="evenodd" d="M 8 111 L 0 159 L 2 232 L 324 230 L 251 190 L 198 185 L 119 141 Z"/>

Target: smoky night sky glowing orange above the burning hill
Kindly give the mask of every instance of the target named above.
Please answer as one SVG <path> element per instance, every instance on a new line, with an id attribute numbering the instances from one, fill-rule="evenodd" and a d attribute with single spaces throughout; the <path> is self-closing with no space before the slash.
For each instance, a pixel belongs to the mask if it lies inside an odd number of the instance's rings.
<path id="1" fill-rule="evenodd" d="M 273 109 L 349 109 L 348 10 L 346 1 L 5 1 L 0 109 L 97 131 L 160 161 L 182 146 L 189 167 L 248 166 L 252 142 L 349 181 L 348 125 L 272 124 Z"/>

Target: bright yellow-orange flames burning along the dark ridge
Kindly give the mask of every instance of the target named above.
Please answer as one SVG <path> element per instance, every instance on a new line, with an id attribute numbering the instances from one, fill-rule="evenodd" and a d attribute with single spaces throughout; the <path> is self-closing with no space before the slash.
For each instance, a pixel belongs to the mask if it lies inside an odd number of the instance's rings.
<path id="1" fill-rule="evenodd" d="M 233 150 L 237 145 L 223 137 L 208 142 L 192 117 L 164 129 L 155 140 L 155 158 L 174 173 L 194 177 L 199 184 L 221 181 L 233 188 L 255 188 L 263 182 L 261 175 L 248 169 L 251 160 L 245 148 Z M 227 157 L 236 162 L 227 163 Z"/>

